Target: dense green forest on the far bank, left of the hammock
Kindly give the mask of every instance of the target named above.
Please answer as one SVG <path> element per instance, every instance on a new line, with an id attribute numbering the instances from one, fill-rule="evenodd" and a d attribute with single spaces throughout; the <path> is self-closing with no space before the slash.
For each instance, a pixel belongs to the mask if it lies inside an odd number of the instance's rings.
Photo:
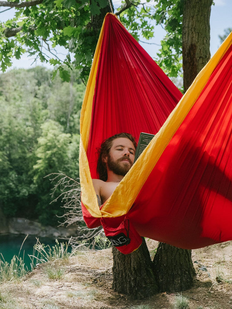
<path id="1" fill-rule="evenodd" d="M 70 75 L 72 83 L 58 76 L 51 82 L 52 72 L 41 67 L 0 75 L 0 200 L 7 217 L 40 215 L 43 224 L 57 225 L 62 211 L 60 204 L 48 207 L 51 185 L 44 177 L 61 170 L 79 176 L 85 87 Z"/>

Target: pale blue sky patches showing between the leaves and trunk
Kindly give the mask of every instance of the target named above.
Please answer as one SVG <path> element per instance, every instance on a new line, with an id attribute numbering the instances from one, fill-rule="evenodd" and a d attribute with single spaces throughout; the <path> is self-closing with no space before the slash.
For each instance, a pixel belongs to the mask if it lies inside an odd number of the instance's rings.
<path id="1" fill-rule="evenodd" d="M 114 7 L 117 7 L 120 0 L 113 1 Z M 217 51 L 220 46 L 219 35 L 224 35 L 224 30 L 226 28 L 232 28 L 232 1 L 231 0 L 214 0 L 215 5 L 211 7 L 210 15 L 210 52 L 211 56 Z M 4 7 L 0 7 L 0 11 L 3 11 Z M 5 21 L 14 15 L 12 10 L 3 12 L 0 14 L 0 21 Z M 159 50 L 159 44 L 161 39 L 163 39 L 165 31 L 161 26 L 155 26 L 154 37 L 149 40 L 148 43 L 141 43 L 142 47 L 147 51 L 151 57 L 156 57 L 156 53 Z M 144 41 L 144 39 L 141 39 Z M 58 50 L 59 57 L 62 58 L 62 54 L 65 53 L 65 50 L 60 48 Z M 20 60 L 13 59 L 12 68 L 31 68 L 37 65 L 43 65 L 49 67 L 49 65 L 41 64 L 40 61 L 34 62 L 32 57 L 29 57 L 27 54 L 24 54 Z M 34 62 L 34 63 L 33 63 Z M 50 66 L 53 68 L 53 66 Z M 10 70 L 8 69 L 8 70 Z M 1 70 L 0 70 L 1 72 Z"/>

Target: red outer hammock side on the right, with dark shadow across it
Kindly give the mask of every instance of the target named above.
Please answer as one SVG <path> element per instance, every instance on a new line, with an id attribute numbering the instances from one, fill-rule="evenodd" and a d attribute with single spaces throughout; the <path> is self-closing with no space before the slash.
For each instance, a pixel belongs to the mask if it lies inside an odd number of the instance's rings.
<path id="1" fill-rule="evenodd" d="M 165 148 L 127 218 L 140 235 L 181 248 L 231 240 L 231 154 L 232 45 Z M 151 209 L 152 215 L 146 216 Z"/>

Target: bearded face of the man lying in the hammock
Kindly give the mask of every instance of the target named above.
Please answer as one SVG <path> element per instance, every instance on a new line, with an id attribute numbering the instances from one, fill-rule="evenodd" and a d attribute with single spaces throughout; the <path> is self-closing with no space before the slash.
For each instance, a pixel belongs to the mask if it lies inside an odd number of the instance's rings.
<path id="1" fill-rule="evenodd" d="M 115 138 L 110 152 L 106 158 L 106 164 L 114 174 L 125 176 L 130 170 L 135 159 L 135 147 L 128 138 Z"/>

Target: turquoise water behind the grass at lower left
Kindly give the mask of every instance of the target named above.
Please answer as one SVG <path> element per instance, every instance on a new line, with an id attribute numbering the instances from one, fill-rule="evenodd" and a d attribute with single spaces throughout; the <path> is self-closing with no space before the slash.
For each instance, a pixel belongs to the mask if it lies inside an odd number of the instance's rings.
<path id="1" fill-rule="evenodd" d="M 29 258 L 28 254 L 32 255 L 33 247 L 37 243 L 36 238 L 39 239 L 40 243 L 49 245 L 50 248 L 52 248 L 52 246 L 56 244 L 55 239 L 49 237 L 41 237 L 41 236 L 37 237 L 34 235 L 28 235 L 28 237 L 24 241 L 25 235 L 0 235 L 0 259 L 3 260 L 4 258 L 5 261 L 10 263 L 14 255 L 19 256 L 21 258 L 24 257 L 24 263 L 30 270 L 31 259 Z M 65 241 L 63 242 L 65 243 Z M 22 249 L 19 255 L 21 246 Z M 71 252 L 71 247 L 69 248 L 68 251 Z"/>

